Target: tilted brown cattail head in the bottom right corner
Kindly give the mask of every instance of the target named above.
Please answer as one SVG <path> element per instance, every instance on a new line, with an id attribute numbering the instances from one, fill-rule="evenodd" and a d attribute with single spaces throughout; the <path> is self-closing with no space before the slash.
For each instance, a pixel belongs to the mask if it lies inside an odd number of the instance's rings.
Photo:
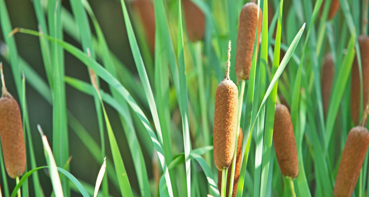
<path id="1" fill-rule="evenodd" d="M 333 190 L 335 197 L 351 197 L 369 144 L 367 128 L 357 126 L 347 135 Z"/>

